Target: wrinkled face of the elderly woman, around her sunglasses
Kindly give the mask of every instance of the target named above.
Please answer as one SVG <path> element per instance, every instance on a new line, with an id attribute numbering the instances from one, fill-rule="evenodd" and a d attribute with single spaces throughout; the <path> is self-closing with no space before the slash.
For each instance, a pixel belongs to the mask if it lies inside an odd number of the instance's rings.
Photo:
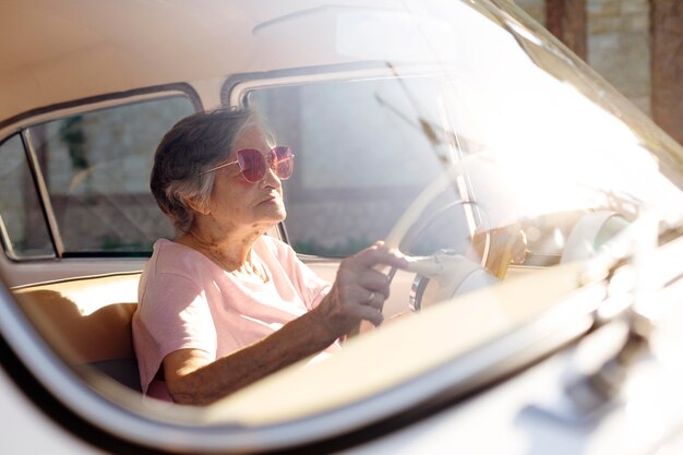
<path id="1" fill-rule="evenodd" d="M 249 128 L 238 137 L 227 160 L 237 160 L 237 151 L 242 148 L 255 148 L 269 156 L 271 146 L 259 128 Z M 216 171 L 208 208 L 220 229 L 261 234 L 285 219 L 281 182 L 266 168 L 265 177 L 257 183 L 248 182 L 237 164 Z"/>

